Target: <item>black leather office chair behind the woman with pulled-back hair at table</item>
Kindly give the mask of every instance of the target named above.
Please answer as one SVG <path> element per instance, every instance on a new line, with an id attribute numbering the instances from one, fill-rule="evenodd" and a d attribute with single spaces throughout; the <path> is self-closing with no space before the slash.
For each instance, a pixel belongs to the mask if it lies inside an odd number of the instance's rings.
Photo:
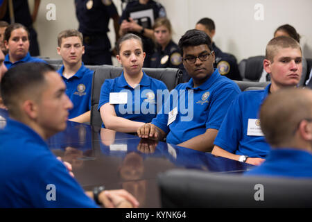
<path id="1" fill-rule="evenodd" d="M 94 66 L 88 68 L 94 70 L 91 95 L 91 125 L 101 126 L 101 114 L 98 112 L 98 101 L 100 99 L 101 86 L 103 85 L 105 79 L 116 78 L 120 76 L 123 69 L 122 67 L 114 67 L 111 65 Z M 144 68 L 143 70 L 148 76 L 162 80 L 169 90 L 174 89 L 177 84 L 182 83 L 182 71 L 180 69 Z"/>

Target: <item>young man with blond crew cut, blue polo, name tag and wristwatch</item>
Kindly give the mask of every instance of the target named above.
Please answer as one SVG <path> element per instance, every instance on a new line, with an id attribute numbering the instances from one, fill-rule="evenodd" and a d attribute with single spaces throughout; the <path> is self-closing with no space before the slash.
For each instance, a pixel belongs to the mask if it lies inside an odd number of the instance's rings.
<path id="1" fill-rule="evenodd" d="M 259 108 L 268 94 L 299 83 L 300 44 L 291 37 L 273 38 L 266 46 L 263 68 L 270 74 L 271 84 L 264 90 L 243 92 L 233 101 L 214 141 L 212 154 L 254 165 L 265 160 L 270 146 L 261 132 Z"/>

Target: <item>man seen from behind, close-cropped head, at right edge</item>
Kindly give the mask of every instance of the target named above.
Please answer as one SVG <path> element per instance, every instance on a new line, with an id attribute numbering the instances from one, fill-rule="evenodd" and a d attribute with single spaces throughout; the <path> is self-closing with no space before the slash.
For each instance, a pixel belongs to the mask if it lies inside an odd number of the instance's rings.
<path id="1" fill-rule="evenodd" d="M 281 89 L 268 96 L 260 122 L 272 149 L 245 175 L 312 179 L 312 91 Z"/>

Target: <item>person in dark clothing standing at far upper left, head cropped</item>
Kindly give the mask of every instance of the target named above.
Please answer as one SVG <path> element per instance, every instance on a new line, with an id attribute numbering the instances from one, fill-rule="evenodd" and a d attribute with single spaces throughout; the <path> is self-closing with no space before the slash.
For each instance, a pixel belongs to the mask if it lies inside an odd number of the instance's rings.
<path id="1" fill-rule="evenodd" d="M 15 17 L 15 23 L 20 23 L 29 31 L 30 38 L 30 46 L 29 46 L 29 53 L 31 53 L 31 56 L 40 56 L 40 49 L 39 44 L 37 42 L 37 32 L 35 31 L 35 28 L 33 28 L 33 23 L 35 22 L 37 18 L 37 12 L 40 6 L 40 0 L 35 0 L 34 8 L 33 8 L 33 15 L 31 15 L 31 12 L 29 11 L 28 1 L 27 0 L 14 0 L 12 1 L 13 4 L 13 12 Z M 8 0 L 4 0 L 1 5 L 1 12 L 4 15 L 4 17 L 1 17 L 0 19 L 3 21 L 8 22 L 9 24 L 12 23 L 10 21 L 10 10 L 9 10 L 9 4 Z"/>

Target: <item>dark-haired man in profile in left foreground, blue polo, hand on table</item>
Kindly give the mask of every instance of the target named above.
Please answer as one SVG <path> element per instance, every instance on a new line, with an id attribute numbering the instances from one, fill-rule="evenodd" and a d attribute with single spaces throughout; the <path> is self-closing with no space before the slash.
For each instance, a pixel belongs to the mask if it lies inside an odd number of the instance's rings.
<path id="1" fill-rule="evenodd" d="M 3 76 L 10 118 L 0 132 L 0 208 L 137 207 L 125 190 L 85 192 L 49 150 L 45 140 L 66 128 L 73 106 L 65 91 L 60 75 L 42 62 L 12 67 Z"/>

